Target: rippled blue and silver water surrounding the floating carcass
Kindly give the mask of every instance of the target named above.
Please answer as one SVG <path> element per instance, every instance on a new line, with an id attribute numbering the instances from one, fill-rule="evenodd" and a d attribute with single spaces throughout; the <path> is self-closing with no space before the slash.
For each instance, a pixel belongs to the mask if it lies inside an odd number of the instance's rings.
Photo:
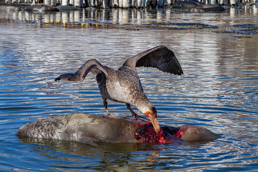
<path id="1" fill-rule="evenodd" d="M 226 9 L 224 13 L 171 8 L 1 12 L 0 171 L 258 171 L 258 36 L 210 32 L 257 24 L 258 5 Z M 219 28 L 129 27 L 155 21 Z M 48 116 L 105 114 L 92 74 L 80 83 L 54 78 L 75 72 L 91 58 L 117 69 L 127 58 L 157 45 L 173 50 L 184 71 L 175 76 L 137 69 L 159 122 L 200 125 L 224 137 L 182 145 L 91 146 L 15 135 L 24 124 Z M 131 116 L 125 104 L 108 101 L 108 108 L 113 115 Z"/>

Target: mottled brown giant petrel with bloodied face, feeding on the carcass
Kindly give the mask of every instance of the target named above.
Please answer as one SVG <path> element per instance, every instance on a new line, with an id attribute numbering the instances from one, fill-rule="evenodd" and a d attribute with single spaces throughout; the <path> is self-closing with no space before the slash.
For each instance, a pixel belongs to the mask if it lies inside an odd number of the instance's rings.
<path id="1" fill-rule="evenodd" d="M 110 115 L 107 110 L 107 99 L 126 103 L 127 108 L 135 119 L 135 117 L 139 116 L 131 109 L 130 105 L 133 105 L 151 120 L 155 130 L 158 132 L 160 127 L 156 108 L 143 93 L 136 67 L 154 67 L 160 71 L 175 75 L 183 74 L 173 51 L 160 45 L 127 59 L 118 70 L 103 66 L 95 59 L 90 59 L 77 72 L 62 74 L 55 81 L 62 79 L 81 82 L 89 72 L 92 72 L 99 85 L 107 115 Z"/>

